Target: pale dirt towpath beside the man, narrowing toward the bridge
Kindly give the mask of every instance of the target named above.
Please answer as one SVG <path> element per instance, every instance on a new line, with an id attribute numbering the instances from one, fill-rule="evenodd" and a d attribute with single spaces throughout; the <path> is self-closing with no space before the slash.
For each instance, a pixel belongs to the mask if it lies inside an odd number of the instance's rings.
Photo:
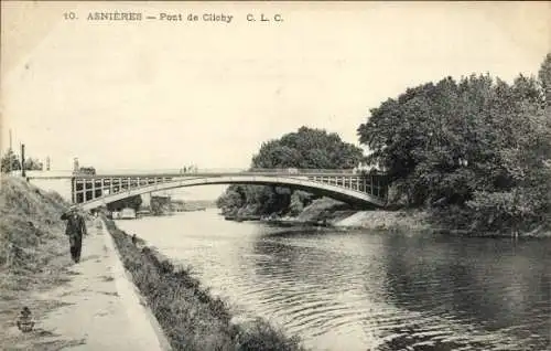
<path id="1" fill-rule="evenodd" d="M 47 331 L 52 344 L 64 350 L 168 350 L 156 320 L 143 307 L 115 251 L 110 234 L 89 226 L 83 240 L 82 260 L 72 268 L 73 279 L 36 299 L 63 306 L 37 316 L 36 327 Z M 60 340 L 62 339 L 62 340 Z"/>

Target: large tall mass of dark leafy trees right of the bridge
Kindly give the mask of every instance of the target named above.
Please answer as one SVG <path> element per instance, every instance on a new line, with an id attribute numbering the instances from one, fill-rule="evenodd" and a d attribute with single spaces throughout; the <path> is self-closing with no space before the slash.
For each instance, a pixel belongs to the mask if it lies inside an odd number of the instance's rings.
<path id="1" fill-rule="evenodd" d="M 518 228 L 551 210 L 550 105 L 551 54 L 538 78 L 409 88 L 371 109 L 358 135 L 367 161 L 388 171 L 395 202 L 456 209 L 476 228 Z"/>

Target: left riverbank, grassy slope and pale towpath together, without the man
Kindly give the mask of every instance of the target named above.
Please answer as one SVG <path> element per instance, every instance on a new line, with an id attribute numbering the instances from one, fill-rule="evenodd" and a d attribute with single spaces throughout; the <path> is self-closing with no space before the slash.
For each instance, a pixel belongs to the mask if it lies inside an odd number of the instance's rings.
<path id="1" fill-rule="evenodd" d="M 80 262 L 71 260 L 67 206 L 22 179 L 1 180 L 0 349 L 162 350 L 109 235 L 88 221 Z M 23 307 L 29 332 L 17 327 Z"/>

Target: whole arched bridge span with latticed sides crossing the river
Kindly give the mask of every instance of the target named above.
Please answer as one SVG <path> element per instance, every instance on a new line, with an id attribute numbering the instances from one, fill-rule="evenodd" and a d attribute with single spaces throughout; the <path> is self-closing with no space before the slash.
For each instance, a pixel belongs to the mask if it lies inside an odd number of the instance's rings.
<path id="1" fill-rule="evenodd" d="M 353 170 L 257 169 L 241 172 L 78 174 L 72 178 L 72 202 L 91 210 L 133 195 L 208 184 L 285 187 L 361 206 L 383 206 L 387 198 L 383 174 Z"/>

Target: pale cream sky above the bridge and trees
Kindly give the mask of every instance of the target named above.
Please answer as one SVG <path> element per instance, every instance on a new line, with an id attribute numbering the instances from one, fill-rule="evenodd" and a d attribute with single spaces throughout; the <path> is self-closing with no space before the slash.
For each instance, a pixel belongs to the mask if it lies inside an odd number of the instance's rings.
<path id="1" fill-rule="evenodd" d="M 86 20 L 116 10 L 233 20 Z M 1 150 L 11 129 L 58 170 L 75 157 L 98 171 L 244 169 L 301 126 L 358 145 L 369 109 L 408 87 L 472 73 L 510 82 L 548 52 L 551 2 L 4 1 Z"/>

